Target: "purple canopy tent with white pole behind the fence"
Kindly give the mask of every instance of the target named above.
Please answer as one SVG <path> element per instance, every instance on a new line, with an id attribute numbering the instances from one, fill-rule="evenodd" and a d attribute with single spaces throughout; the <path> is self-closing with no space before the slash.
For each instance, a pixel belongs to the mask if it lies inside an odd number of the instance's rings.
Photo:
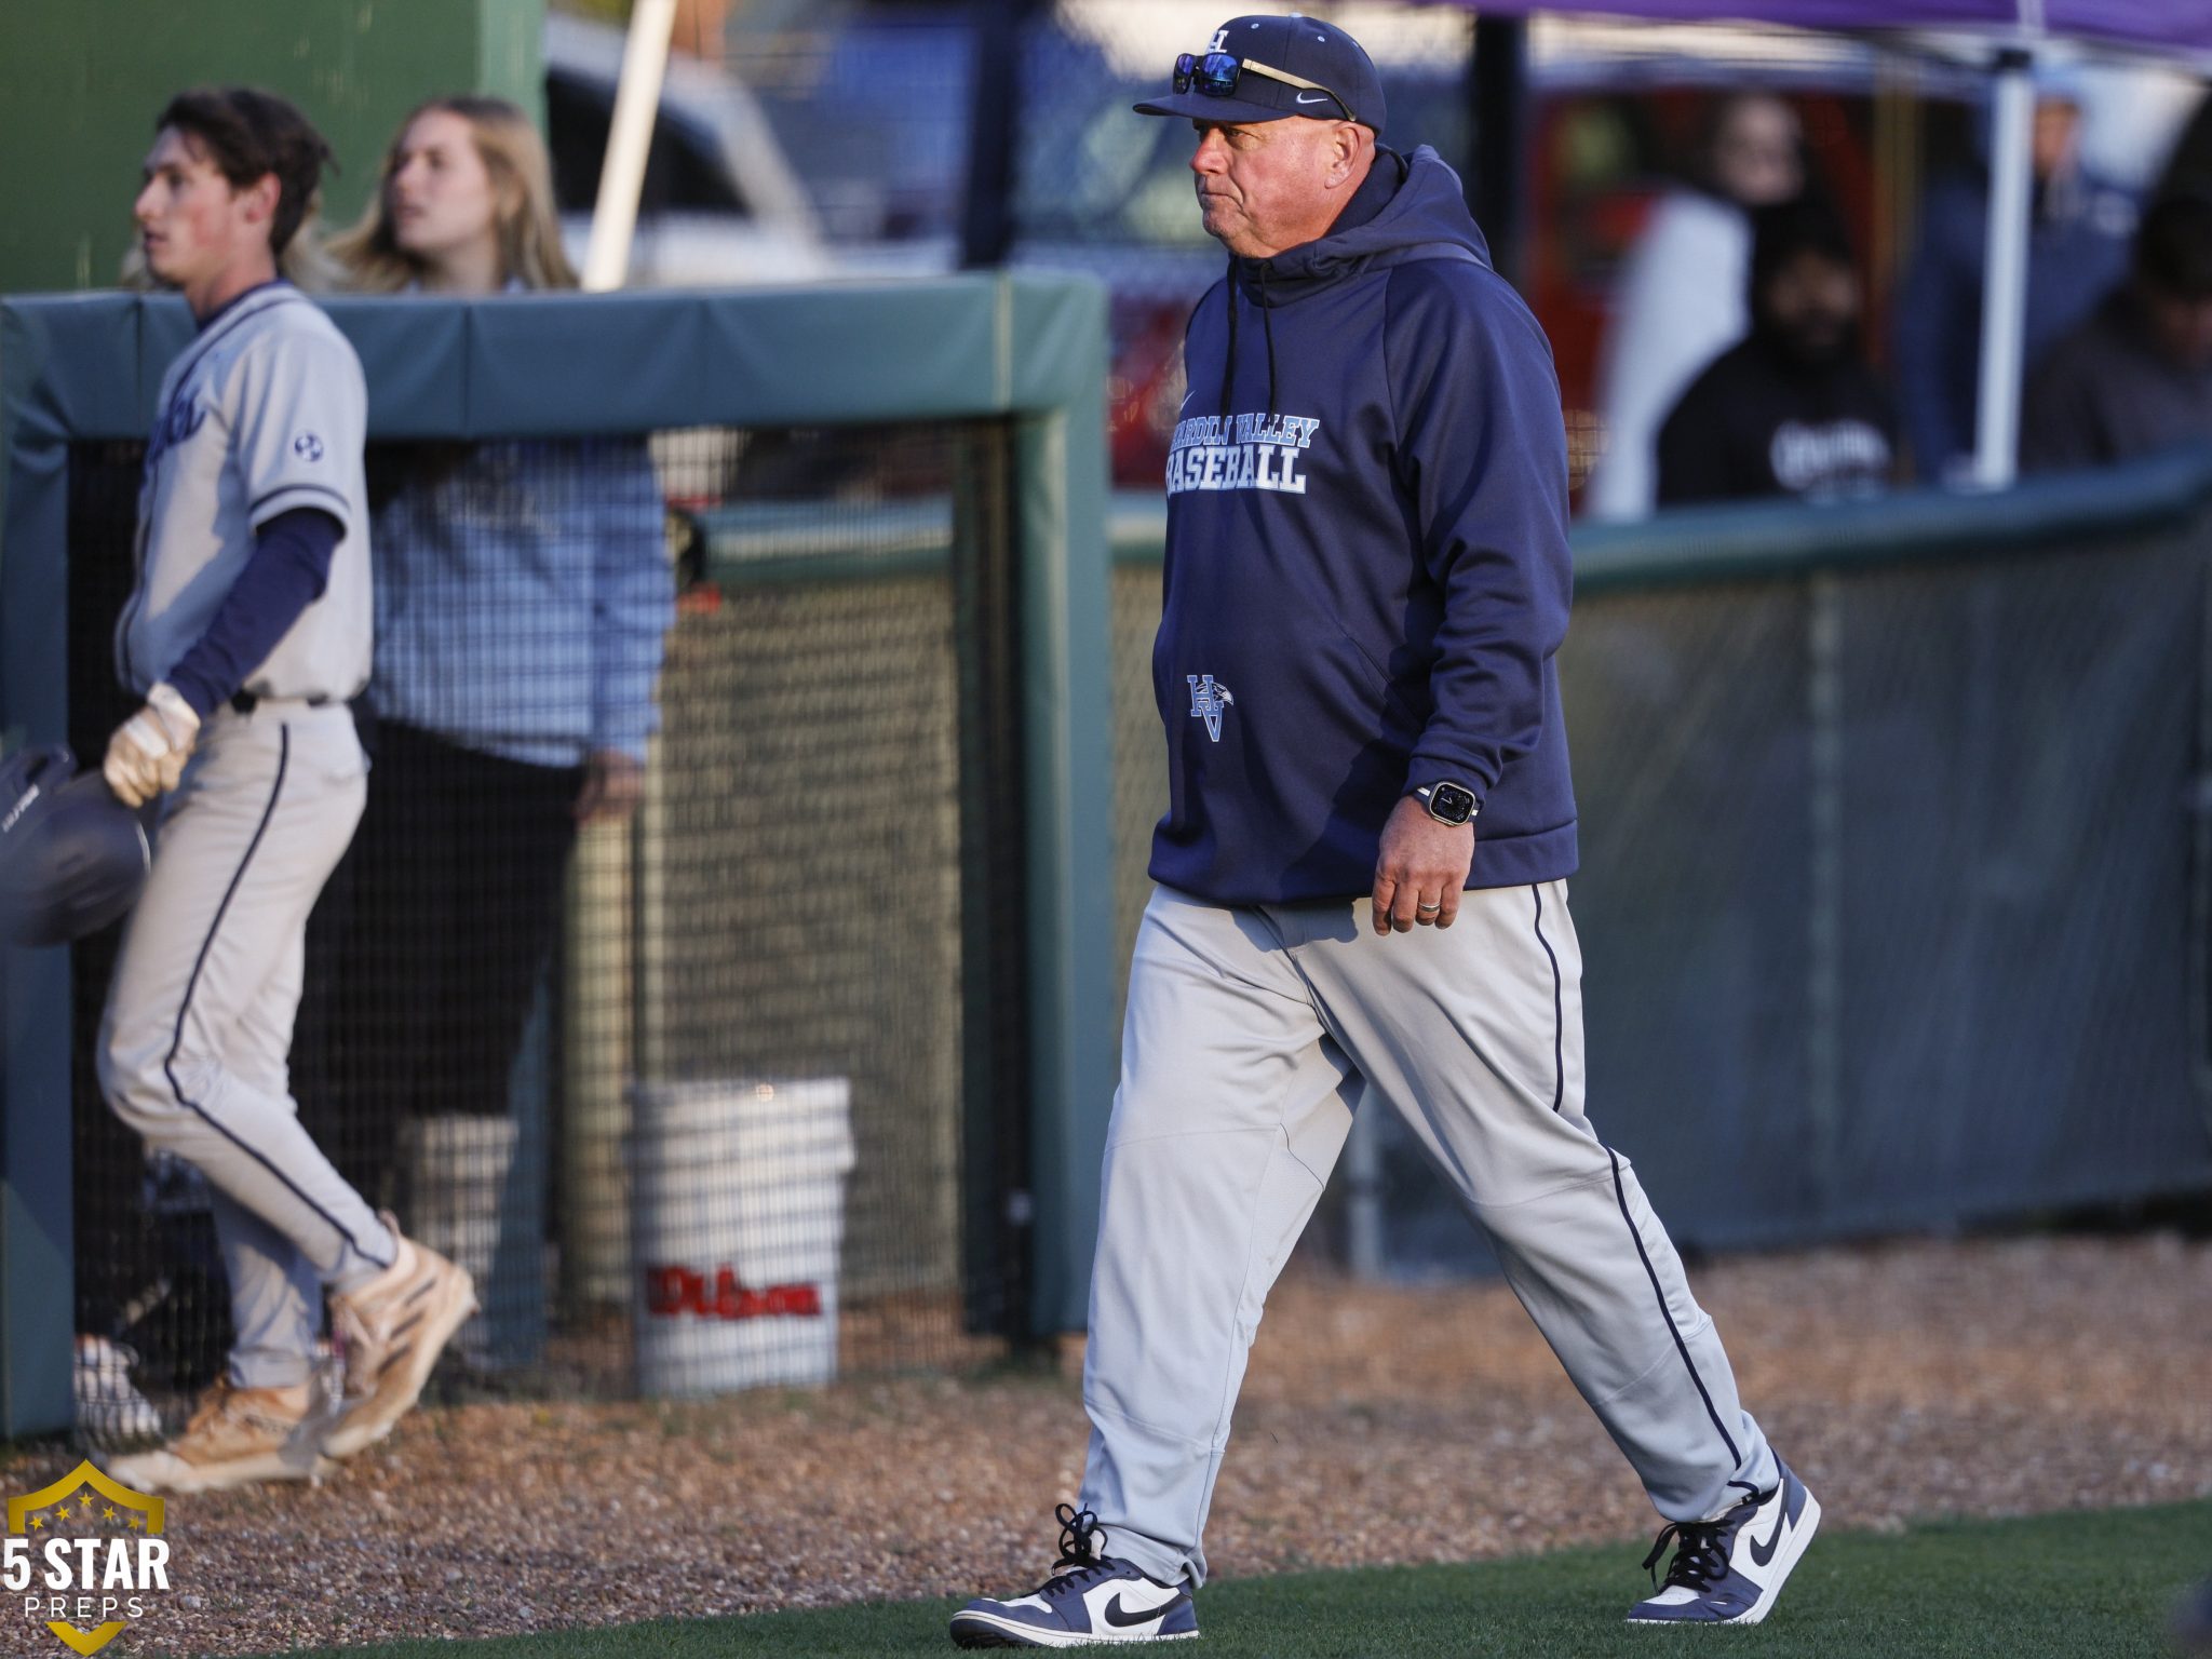
<path id="1" fill-rule="evenodd" d="M 2013 482 L 2020 458 L 2020 358 L 2028 288 L 2028 144 L 2042 42 L 2174 51 L 2212 60 L 2212 0 L 1455 0 L 1484 15 L 1584 11 L 1655 22 L 1770 22 L 1832 33 L 1973 29 L 1997 46 L 1991 122 L 1989 265 L 1982 276 L 1982 376 L 1973 480 Z"/>

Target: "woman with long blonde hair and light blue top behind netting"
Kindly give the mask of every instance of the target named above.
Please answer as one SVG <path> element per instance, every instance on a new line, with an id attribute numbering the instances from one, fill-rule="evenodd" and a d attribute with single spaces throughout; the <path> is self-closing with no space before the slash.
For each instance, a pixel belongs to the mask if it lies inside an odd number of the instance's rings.
<path id="1" fill-rule="evenodd" d="M 418 108 L 334 250 L 365 290 L 575 285 L 544 144 L 491 97 Z M 374 772 L 334 918 L 332 1104 L 358 1179 L 398 1186 L 484 1276 L 518 1139 L 509 1075 L 577 825 L 641 792 L 672 619 L 664 509 L 630 436 L 394 447 L 372 453 L 369 498 Z"/>

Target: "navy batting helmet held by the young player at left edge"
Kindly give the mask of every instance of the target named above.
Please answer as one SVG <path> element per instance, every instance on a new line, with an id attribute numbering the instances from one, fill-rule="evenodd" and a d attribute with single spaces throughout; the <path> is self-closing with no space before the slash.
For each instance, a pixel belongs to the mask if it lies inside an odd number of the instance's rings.
<path id="1" fill-rule="evenodd" d="M 66 945 L 122 916 L 146 885 L 146 830 L 60 743 L 0 765 L 0 933 Z"/>

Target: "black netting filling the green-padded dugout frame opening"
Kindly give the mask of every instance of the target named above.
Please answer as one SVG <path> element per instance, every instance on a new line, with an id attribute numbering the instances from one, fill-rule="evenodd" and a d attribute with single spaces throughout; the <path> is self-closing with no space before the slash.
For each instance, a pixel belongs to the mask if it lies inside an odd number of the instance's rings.
<path id="1" fill-rule="evenodd" d="M 80 757 L 131 708 L 139 453 L 71 456 Z M 292 1088 L 478 1276 L 447 1387 L 1004 1352 L 1020 916 L 973 874 L 1020 856 L 1009 465 L 993 425 L 372 445 L 374 768 Z M 175 1407 L 228 1296 L 197 1172 L 97 1097 L 115 942 L 75 951 L 77 1325 Z"/>

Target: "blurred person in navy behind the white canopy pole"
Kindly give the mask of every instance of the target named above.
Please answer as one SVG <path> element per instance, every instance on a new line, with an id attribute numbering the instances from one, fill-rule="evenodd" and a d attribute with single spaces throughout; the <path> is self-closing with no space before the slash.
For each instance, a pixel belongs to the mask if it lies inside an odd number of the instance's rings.
<path id="1" fill-rule="evenodd" d="M 2081 166 L 2081 106 L 2064 80 L 2048 82 L 2035 104 L 2033 168 L 2022 330 L 2028 376 L 2126 272 L 2135 230 L 2135 201 Z M 1973 462 L 1986 250 L 1986 170 L 1931 186 L 1893 338 L 1905 436 L 1929 482 L 1958 480 Z"/>

